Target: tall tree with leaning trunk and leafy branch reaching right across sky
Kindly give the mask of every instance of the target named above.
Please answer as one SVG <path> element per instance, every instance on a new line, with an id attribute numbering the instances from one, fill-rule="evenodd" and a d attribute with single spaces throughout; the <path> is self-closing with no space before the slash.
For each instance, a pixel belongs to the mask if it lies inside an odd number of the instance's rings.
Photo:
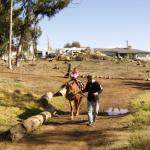
<path id="1" fill-rule="evenodd" d="M 36 53 L 37 49 L 37 39 L 39 32 L 37 32 L 37 25 L 39 21 L 47 16 L 48 18 L 54 16 L 61 9 L 68 6 L 68 4 L 72 0 L 23 0 L 22 2 L 18 0 L 20 3 L 20 7 L 22 9 L 22 21 L 23 24 L 20 28 L 20 41 L 18 45 L 16 65 L 18 62 L 19 53 L 22 51 L 22 45 L 24 43 L 24 38 L 26 38 L 26 33 L 34 26 L 34 35 L 33 37 L 33 47 L 34 53 Z M 35 54 L 34 54 L 35 55 Z"/>

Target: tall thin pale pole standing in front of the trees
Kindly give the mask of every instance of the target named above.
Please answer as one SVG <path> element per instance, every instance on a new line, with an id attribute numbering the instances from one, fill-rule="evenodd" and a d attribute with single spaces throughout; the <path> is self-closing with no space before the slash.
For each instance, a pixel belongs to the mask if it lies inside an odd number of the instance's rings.
<path id="1" fill-rule="evenodd" d="M 10 6 L 9 53 L 8 53 L 9 69 L 12 69 L 12 63 L 11 63 L 11 51 L 12 51 L 12 13 L 13 13 L 13 0 L 11 0 L 11 6 Z"/>

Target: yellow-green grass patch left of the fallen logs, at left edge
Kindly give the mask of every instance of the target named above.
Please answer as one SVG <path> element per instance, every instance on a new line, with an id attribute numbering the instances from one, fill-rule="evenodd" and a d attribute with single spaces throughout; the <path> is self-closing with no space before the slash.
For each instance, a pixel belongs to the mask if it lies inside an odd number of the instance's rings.
<path id="1" fill-rule="evenodd" d="M 21 82 L 4 79 L 0 83 L 0 131 L 4 131 L 17 124 L 22 114 L 38 108 L 38 97 L 33 93 L 25 93 Z"/>

